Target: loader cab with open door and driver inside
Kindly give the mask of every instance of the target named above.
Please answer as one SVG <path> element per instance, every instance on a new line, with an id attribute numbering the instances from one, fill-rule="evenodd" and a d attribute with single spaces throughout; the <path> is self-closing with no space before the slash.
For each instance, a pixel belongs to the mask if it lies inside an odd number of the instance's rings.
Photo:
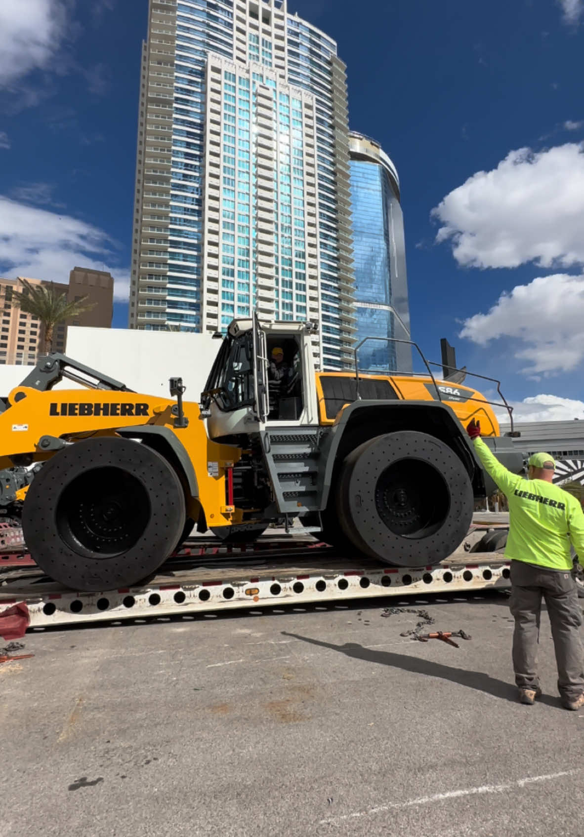
<path id="1" fill-rule="evenodd" d="M 209 437 L 318 424 L 311 326 L 234 320 L 201 395 Z"/>

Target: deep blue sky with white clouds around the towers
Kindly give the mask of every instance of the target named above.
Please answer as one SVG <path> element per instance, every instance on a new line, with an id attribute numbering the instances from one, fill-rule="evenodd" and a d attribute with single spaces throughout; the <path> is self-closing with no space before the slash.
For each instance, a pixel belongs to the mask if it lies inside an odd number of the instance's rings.
<path id="1" fill-rule="evenodd" d="M 525 418 L 583 417 L 584 2 L 289 10 L 337 40 L 350 126 L 400 174 L 412 339 L 437 359 L 447 336 L 515 402 L 535 398 Z M 3 275 L 103 264 L 123 295 L 146 31 L 147 0 L 3 0 Z"/>

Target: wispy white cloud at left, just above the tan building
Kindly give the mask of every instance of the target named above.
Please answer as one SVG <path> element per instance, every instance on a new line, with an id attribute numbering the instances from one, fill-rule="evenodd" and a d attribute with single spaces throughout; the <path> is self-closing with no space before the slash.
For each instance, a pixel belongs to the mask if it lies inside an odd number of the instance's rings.
<path id="1" fill-rule="evenodd" d="M 127 301 L 129 270 L 116 266 L 116 243 L 70 215 L 27 206 L 0 195 L 0 275 L 67 282 L 75 265 L 109 270 L 114 299 Z"/>

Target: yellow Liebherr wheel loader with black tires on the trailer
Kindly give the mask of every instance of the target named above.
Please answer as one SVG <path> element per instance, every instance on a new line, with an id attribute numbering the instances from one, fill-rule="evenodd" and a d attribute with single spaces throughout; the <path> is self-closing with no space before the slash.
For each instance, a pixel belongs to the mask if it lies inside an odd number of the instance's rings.
<path id="1" fill-rule="evenodd" d="M 490 404 L 427 363 L 427 376 L 315 372 L 312 341 L 307 323 L 233 321 L 200 403 L 183 402 L 180 378 L 158 398 L 43 358 L 3 405 L 0 470 L 44 573 L 79 591 L 123 588 L 194 526 L 244 542 L 296 516 L 323 542 L 395 566 L 447 557 L 494 488 L 461 422 L 480 419 L 499 459 L 523 466 Z M 289 372 L 277 388 L 274 347 Z M 53 390 L 63 377 L 86 389 Z"/>

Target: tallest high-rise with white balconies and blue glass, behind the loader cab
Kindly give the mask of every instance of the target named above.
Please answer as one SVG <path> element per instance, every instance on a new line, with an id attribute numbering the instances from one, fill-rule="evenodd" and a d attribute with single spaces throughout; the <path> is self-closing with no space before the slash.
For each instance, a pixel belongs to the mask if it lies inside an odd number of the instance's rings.
<path id="1" fill-rule="evenodd" d="M 130 325 L 318 322 L 350 364 L 354 274 L 345 67 L 287 0 L 150 0 Z"/>

